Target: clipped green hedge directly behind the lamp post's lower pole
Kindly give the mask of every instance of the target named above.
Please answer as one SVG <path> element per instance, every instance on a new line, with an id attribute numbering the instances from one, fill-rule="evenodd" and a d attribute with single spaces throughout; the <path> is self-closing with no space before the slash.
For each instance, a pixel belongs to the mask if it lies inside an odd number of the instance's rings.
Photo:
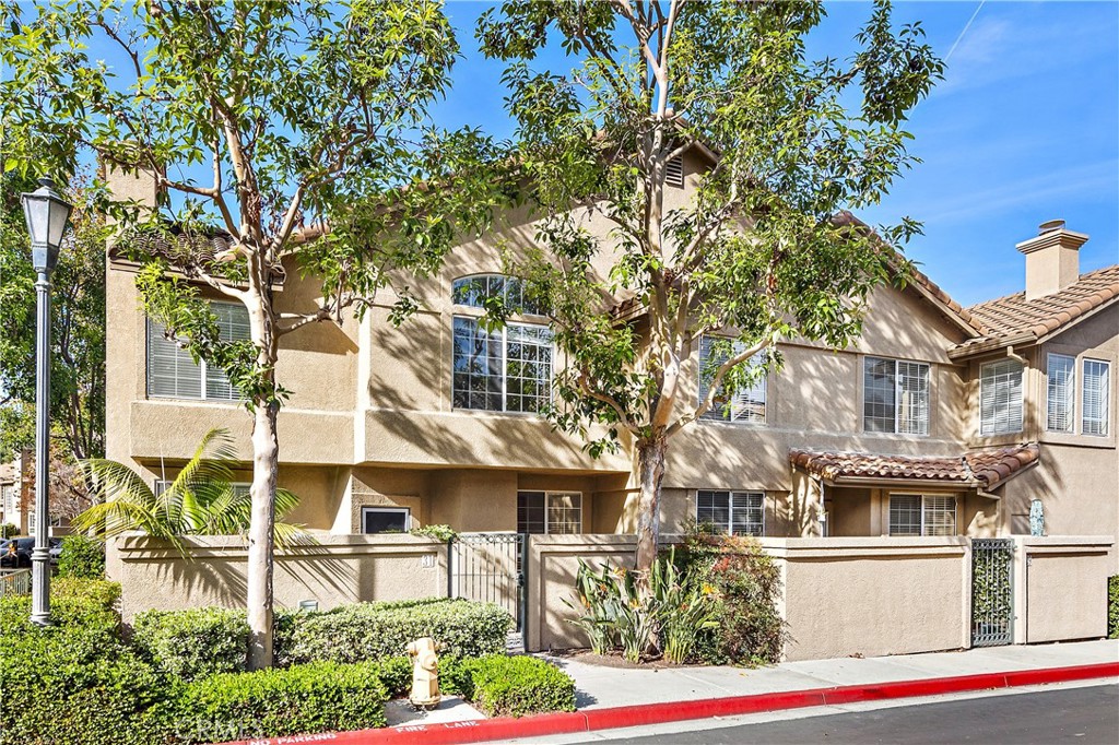
<path id="1" fill-rule="evenodd" d="M 116 602 L 121 586 L 104 579 L 58 577 L 50 583 L 50 615 L 55 626 L 47 632 L 81 628 L 86 632 L 117 638 L 121 615 Z M 0 638 L 40 631 L 30 623 L 29 595 L 0 596 Z"/>

